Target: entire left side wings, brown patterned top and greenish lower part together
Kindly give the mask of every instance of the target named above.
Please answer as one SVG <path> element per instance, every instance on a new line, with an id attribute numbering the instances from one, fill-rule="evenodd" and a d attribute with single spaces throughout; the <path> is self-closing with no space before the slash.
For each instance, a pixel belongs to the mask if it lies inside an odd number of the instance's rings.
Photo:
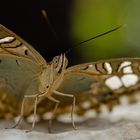
<path id="1" fill-rule="evenodd" d="M 20 108 L 27 88 L 30 94 L 37 92 L 37 75 L 44 65 L 46 61 L 33 47 L 0 25 L 0 118 L 19 113 L 16 107 Z"/>

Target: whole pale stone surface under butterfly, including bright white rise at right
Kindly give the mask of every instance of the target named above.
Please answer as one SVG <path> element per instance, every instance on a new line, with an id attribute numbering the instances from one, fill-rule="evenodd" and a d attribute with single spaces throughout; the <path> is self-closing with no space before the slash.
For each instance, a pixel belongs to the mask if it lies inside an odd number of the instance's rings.
<path id="1" fill-rule="evenodd" d="M 26 133 L 31 125 L 23 122 L 21 129 L 3 129 L 13 124 L 0 121 L 0 139 L 2 140 L 140 140 L 140 105 L 114 108 L 110 114 L 101 114 L 99 118 L 77 123 L 74 131 L 71 124 L 53 122 L 53 134 L 47 132 L 47 122 L 37 123 L 35 130 Z"/>

